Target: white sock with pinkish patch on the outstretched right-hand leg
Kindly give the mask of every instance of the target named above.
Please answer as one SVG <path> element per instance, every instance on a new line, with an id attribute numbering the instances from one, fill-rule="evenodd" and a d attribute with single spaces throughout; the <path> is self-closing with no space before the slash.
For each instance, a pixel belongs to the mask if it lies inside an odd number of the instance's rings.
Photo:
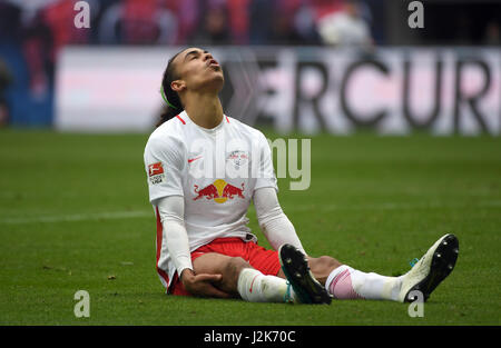
<path id="1" fill-rule="evenodd" d="M 365 274 L 343 265 L 327 277 L 325 289 L 337 299 L 399 300 L 402 277 Z"/>

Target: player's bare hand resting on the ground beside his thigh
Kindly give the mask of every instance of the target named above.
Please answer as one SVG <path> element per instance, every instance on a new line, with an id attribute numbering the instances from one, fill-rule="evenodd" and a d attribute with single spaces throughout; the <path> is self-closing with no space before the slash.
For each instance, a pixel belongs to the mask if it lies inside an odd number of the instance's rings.
<path id="1" fill-rule="evenodd" d="M 195 275 L 190 269 L 183 270 L 181 281 L 186 291 L 198 297 L 229 298 L 230 295 L 217 288 L 223 280 L 222 275 Z"/>

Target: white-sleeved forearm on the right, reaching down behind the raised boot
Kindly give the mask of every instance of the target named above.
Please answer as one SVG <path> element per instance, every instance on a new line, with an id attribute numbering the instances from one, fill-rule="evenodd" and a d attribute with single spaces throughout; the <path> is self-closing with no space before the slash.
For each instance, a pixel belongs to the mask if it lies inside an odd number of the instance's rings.
<path id="1" fill-rule="evenodd" d="M 259 188 L 254 191 L 253 200 L 259 227 L 272 247 L 278 250 L 282 245 L 289 243 L 306 255 L 294 226 L 282 210 L 276 190 Z"/>

